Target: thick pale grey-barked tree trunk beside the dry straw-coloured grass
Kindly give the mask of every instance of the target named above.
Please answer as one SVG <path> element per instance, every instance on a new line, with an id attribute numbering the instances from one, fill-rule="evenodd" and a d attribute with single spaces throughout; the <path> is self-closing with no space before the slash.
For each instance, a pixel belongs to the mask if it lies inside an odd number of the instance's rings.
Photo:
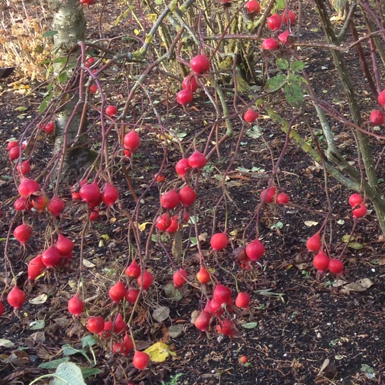
<path id="1" fill-rule="evenodd" d="M 80 54 L 78 42 L 83 41 L 85 37 L 86 20 L 83 8 L 78 0 L 51 0 L 50 9 L 53 14 L 52 30 L 58 32 L 53 37 L 55 58 L 68 57 L 66 68 L 63 70 L 63 62 L 58 62 L 54 64 L 54 71 L 56 73 L 67 71 L 70 78 L 71 65 L 76 62 Z M 79 84 L 75 83 L 72 89 L 77 86 Z M 62 93 L 60 87 L 54 91 L 56 94 Z M 82 121 L 84 103 L 79 100 L 79 91 L 71 91 L 71 89 L 63 95 L 61 100 L 61 108 L 55 115 L 54 152 L 60 151 L 64 157 L 61 159 L 63 161 L 61 179 L 71 182 L 79 176 L 81 168 L 88 164 L 88 149 L 83 146 L 86 136 L 82 134 L 86 130 L 86 122 L 84 119 Z M 68 145 L 72 140 L 75 140 L 72 145 L 75 148 Z M 64 147 L 66 147 L 65 150 Z M 57 168 L 54 172 L 55 177 L 58 171 Z"/>

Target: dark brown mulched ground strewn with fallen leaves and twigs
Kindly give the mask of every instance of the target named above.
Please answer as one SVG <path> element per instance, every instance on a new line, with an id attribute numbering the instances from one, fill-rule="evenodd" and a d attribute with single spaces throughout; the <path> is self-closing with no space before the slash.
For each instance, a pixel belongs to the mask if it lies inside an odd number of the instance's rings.
<path id="1" fill-rule="evenodd" d="M 113 12 L 114 11 L 114 12 Z M 111 10 L 113 19 L 117 10 Z M 95 11 L 95 15 L 96 15 Z M 312 25 L 311 7 L 305 9 L 309 16 L 307 27 Z M 90 10 L 87 16 L 93 15 Z M 93 17 L 96 17 L 93 15 Z M 306 18 L 305 18 L 306 20 Z M 93 20 L 90 33 L 97 32 Z M 122 26 L 126 23 L 118 26 Z M 314 27 L 314 26 L 313 26 Z M 131 26 L 132 28 L 132 26 Z M 319 38 L 322 33 L 317 31 Z M 119 34 L 119 29 L 111 28 L 108 36 Z M 309 64 L 309 72 L 322 76 L 314 76 L 314 88 L 329 101 L 338 101 L 342 97 L 342 90 L 337 84 L 336 74 L 325 52 L 306 49 L 300 52 L 302 59 Z M 355 52 L 347 55 L 350 63 L 350 74 L 354 84 L 359 89 L 366 89 L 363 83 L 359 64 Z M 320 69 L 325 66 L 326 69 Z M 0 81 L 0 92 L 7 88 L 7 82 Z M 157 79 L 153 79 L 157 83 Z M 157 84 L 155 84 L 158 86 Z M 335 86 L 334 86 L 335 85 Z M 156 88 L 156 87 L 154 87 Z M 115 103 L 123 105 L 125 93 L 123 88 L 115 95 Z M 122 91 L 120 93 L 119 91 Z M 158 93 L 157 93 L 158 92 Z M 155 91 L 155 98 L 162 100 L 163 90 Z M 5 143 L 11 137 L 18 137 L 37 111 L 40 97 L 33 93 L 21 99 L 20 95 L 5 92 L 0 103 L 0 139 Z M 172 101 L 174 103 L 174 101 Z M 367 103 L 367 102 L 365 102 Z M 19 106 L 27 107 L 21 119 L 20 112 L 15 110 Z M 145 106 L 144 106 L 145 107 Z M 367 106 L 362 106 L 367 109 Z M 374 107 L 374 105 L 372 105 Z M 161 113 L 167 113 L 167 104 L 160 103 L 157 108 Z M 339 108 L 346 106 L 339 105 Z M 277 106 L 280 113 L 285 113 L 282 104 Z M 192 106 L 184 114 L 180 107 L 174 108 L 175 117 L 167 118 L 168 128 L 177 128 L 186 132 L 189 140 L 194 133 L 203 126 L 203 120 L 215 118 L 214 110 L 204 97 L 196 98 Z M 309 113 L 312 113 L 309 110 Z M 191 122 L 194 122 L 191 125 Z M 155 127 L 156 120 L 148 120 L 146 124 Z M 269 138 L 275 158 L 278 157 L 284 141 L 284 134 L 271 120 L 263 120 L 262 130 Z M 150 127 L 150 126 L 149 126 Z M 154 128 L 155 129 L 155 128 Z M 235 122 L 235 129 L 239 129 L 239 122 Z M 129 168 L 130 177 L 139 196 L 147 188 L 152 176 L 159 169 L 163 158 L 163 149 L 156 137 L 151 134 L 142 136 L 140 150 Z M 344 147 L 348 157 L 353 159 L 354 145 L 351 133 L 343 127 L 336 127 L 337 143 Z M 237 138 L 236 138 L 237 139 Z M 207 255 L 209 266 L 216 271 L 216 276 L 222 283 L 226 283 L 236 293 L 235 277 L 238 288 L 247 291 L 252 298 L 248 310 L 234 310 L 236 319 L 236 333 L 232 338 L 222 337 L 216 332 L 216 321 L 213 321 L 207 333 L 200 333 L 190 322 L 191 313 L 201 310 L 202 293 L 194 288 L 182 289 L 182 298 L 178 302 L 170 302 L 165 298 L 164 286 L 171 282 L 171 267 L 165 252 L 159 244 L 151 243 L 150 260 L 146 261 L 155 273 L 155 285 L 145 294 L 134 315 L 134 335 L 138 348 L 144 349 L 152 343 L 162 341 L 176 352 L 174 358 L 169 357 L 162 363 L 151 363 L 149 369 L 138 372 L 132 367 L 131 356 L 123 357 L 111 353 L 111 341 L 99 339 L 94 347 L 97 360 L 95 367 L 102 370 L 96 377 L 87 379 L 89 384 L 152 384 L 169 381 L 175 375 L 181 374 L 179 384 L 290 384 L 309 385 L 321 384 L 370 384 L 385 383 L 385 290 L 382 264 L 385 253 L 383 243 L 379 242 L 380 232 L 376 226 L 374 214 L 362 219 L 357 227 L 355 242 L 363 248 L 348 248 L 343 256 L 344 274 L 335 277 L 326 274 L 317 276 L 312 266 L 312 255 L 305 249 L 305 240 L 314 234 L 323 222 L 322 213 L 328 207 L 324 195 L 324 178 L 322 169 L 315 165 L 303 152 L 289 145 L 279 174 L 282 189 L 291 196 L 291 204 L 285 207 L 266 205 L 263 209 L 259 224 L 260 238 L 266 247 L 265 256 L 261 259 L 261 266 L 255 266 L 251 271 L 241 269 L 239 264 L 233 263 L 233 249 L 242 244 L 244 227 L 252 217 L 259 203 L 259 193 L 268 180 L 271 170 L 270 153 L 259 139 L 245 137 L 239 156 L 233 166 L 236 170 L 230 175 L 227 184 L 229 196 L 233 202 L 228 203 L 228 233 L 230 245 L 217 256 L 209 255 L 209 238 L 213 226 L 213 207 L 218 203 L 222 194 L 220 182 L 215 176 L 218 169 L 224 170 L 230 156 L 234 154 L 236 139 L 227 141 L 221 147 L 223 161 L 213 157 L 210 164 L 215 166 L 207 170 L 200 177 L 197 214 L 201 233 L 207 233 L 207 239 L 202 238 L 202 248 Z M 32 174 L 38 175 L 49 159 L 52 140 L 42 137 L 38 156 L 34 158 Z M 372 141 L 374 150 L 381 148 L 381 143 Z M 5 146 L 4 146 L 5 147 Z M 94 147 L 97 149 L 97 145 Z M 174 166 L 180 158 L 177 148 L 170 146 L 167 164 L 164 170 L 166 181 L 150 188 L 142 206 L 139 222 L 152 222 L 159 205 L 160 188 L 164 190 L 167 183 L 174 182 Z M 237 167 L 251 170 L 260 167 L 266 170 L 262 179 L 255 178 L 251 172 L 241 172 Z M 380 171 L 382 168 L 380 168 Z M 15 184 L 9 177 L 12 175 L 7 159 L 7 151 L 0 156 L 0 202 L 3 216 L 0 219 L 2 251 L 5 246 L 9 224 L 14 212 L 12 204 L 7 200 L 17 194 Z M 381 172 L 379 174 L 381 176 Z M 127 264 L 131 253 L 127 244 L 127 219 L 122 208 L 131 210 L 134 201 L 126 187 L 124 176 L 117 177 L 120 190 L 120 204 L 114 210 L 102 210 L 101 218 L 92 224 L 84 239 L 84 258 L 92 264 L 84 271 L 85 298 L 91 298 L 87 304 L 89 315 L 107 317 L 111 311 L 108 298 L 108 288 L 113 284 L 120 272 Z M 24 252 L 11 240 L 8 254 L 12 260 L 15 272 L 23 272 L 19 279 L 25 283 L 28 299 L 46 294 L 44 303 L 33 304 L 27 301 L 23 309 L 13 314 L 3 299 L 5 313 L 1 317 L 0 337 L 11 340 L 14 346 L 0 350 L 0 378 L 8 383 L 28 384 L 32 379 L 47 374 L 49 369 L 39 368 L 43 362 L 62 358 L 62 346 L 65 343 L 76 349 L 82 347 L 82 337 L 89 334 L 85 329 L 87 317 L 73 319 L 67 311 L 67 301 L 74 294 L 78 265 L 76 256 L 80 252 L 80 235 L 86 209 L 79 203 L 71 203 L 69 185 L 62 186 L 62 194 L 68 201 L 60 226 L 75 242 L 74 259 L 70 265 L 64 266 L 55 276 L 46 275 L 38 279 L 33 285 L 26 282 L 25 260 L 35 256 L 44 248 L 44 233 L 47 225 L 47 215 L 29 215 L 28 221 L 33 226 L 32 242 L 27 244 Z M 343 247 L 342 237 L 350 233 L 352 228 L 348 197 L 351 191 L 330 179 L 329 193 L 333 205 L 333 215 L 343 219 L 338 224 L 333 222 L 332 253 L 338 255 Z M 372 209 L 371 205 L 369 208 Z M 321 213 L 321 215 L 319 215 Z M 219 206 L 215 230 L 224 227 L 225 207 Z M 308 221 L 313 221 L 310 225 Z M 306 224 L 305 224 L 306 222 Z M 149 225 L 141 233 L 143 246 L 148 234 Z M 192 233 L 191 233 L 192 231 Z M 328 231 L 330 231 L 328 226 Z M 329 237 L 328 233 L 328 237 Z M 197 249 L 191 245 L 194 231 L 190 226 L 182 230 L 184 260 L 183 265 L 191 275 L 199 268 Z M 102 242 L 101 242 L 102 241 Z M 164 244 L 171 249 L 172 239 L 164 237 Z M 5 279 L 4 264 L 0 266 L 0 278 Z M 341 290 L 345 283 L 352 283 L 367 278 L 373 285 L 362 293 Z M 210 288 L 207 289 L 210 292 Z M 169 317 L 163 322 L 153 318 L 153 310 L 160 305 L 170 310 Z M 130 314 L 131 306 L 119 305 L 121 312 Z M 31 322 L 44 320 L 42 329 L 31 328 Z M 244 328 L 246 324 L 250 329 Z M 178 337 L 171 337 L 169 327 L 182 325 L 183 330 Z M 88 353 L 90 355 L 90 353 Z M 239 362 L 240 356 L 246 356 L 247 364 Z M 91 357 L 91 355 L 90 355 Z M 71 360 L 83 367 L 90 364 L 82 354 L 71 355 Z M 325 360 L 329 365 L 324 365 Z"/>

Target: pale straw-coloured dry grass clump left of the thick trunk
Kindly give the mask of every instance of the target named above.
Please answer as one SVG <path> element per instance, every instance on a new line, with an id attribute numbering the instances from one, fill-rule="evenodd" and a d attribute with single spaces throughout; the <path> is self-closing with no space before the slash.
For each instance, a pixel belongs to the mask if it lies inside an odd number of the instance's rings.
<path id="1" fill-rule="evenodd" d="M 0 29 L 0 66 L 16 66 L 16 74 L 24 80 L 46 80 L 48 65 L 43 62 L 50 59 L 52 44 L 42 37 L 49 29 L 43 3 L 3 0 Z"/>

